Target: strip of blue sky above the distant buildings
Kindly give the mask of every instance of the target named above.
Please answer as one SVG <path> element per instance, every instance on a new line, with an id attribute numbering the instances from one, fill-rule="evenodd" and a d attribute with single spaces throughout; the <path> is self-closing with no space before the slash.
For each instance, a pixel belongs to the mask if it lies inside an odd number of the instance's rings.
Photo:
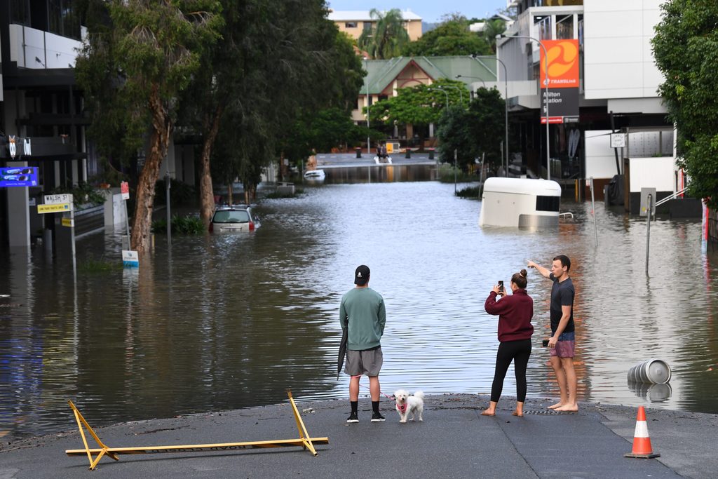
<path id="1" fill-rule="evenodd" d="M 485 18 L 506 7 L 506 0 L 327 0 L 332 10 L 411 10 L 429 23 L 459 12 L 467 18 Z"/>

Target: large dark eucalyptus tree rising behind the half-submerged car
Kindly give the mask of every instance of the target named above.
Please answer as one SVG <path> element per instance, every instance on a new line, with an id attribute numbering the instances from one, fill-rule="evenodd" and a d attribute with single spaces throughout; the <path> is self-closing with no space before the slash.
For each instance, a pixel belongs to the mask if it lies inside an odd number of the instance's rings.
<path id="1" fill-rule="evenodd" d="M 348 108 L 362 82 L 360 60 L 326 18 L 324 0 L 222 1 L 222 39 L 183 99 L 183 121 L 202 132 L 205 221 L 213 177 L 230 189 L 239 177 L 252 192 L 297 118 L 323 106 Z"/>

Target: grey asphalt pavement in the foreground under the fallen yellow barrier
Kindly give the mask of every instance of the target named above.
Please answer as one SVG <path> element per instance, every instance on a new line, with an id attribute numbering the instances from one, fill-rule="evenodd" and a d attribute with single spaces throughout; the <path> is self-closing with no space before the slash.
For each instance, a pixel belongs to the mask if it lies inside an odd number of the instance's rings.
<path id="1" fill-rule="evenodd" d="M 360 398 L 359 424 L 345 424 L 348 401 L 297 404 L 310 437 L 328 437 L 317 457 L 300 447 L 238 452 L 188 452 L 103 457 L 95 473 L 88 459 L 65 450 L 83 447 L 75 431 L 0 445 L 0 478 L 712 478 L 718 468 L 715 414 L 648 409 L 657 459 L 631 459 L 637 410 L 581 403 L 576 414 L 555 414 L 551 401 L 527 399 L 523 418 L 504 397 L 496 417 L 481 417 L 488 397 L 427 396 L 424 422 L 398 423 L 382 399 L 386 422 L 372 423 Z M 78 408 L 90 425 L 101 406 Z M 69 407 L 67 427 L 74 424 Z M 289 404 L 192 414 L 95 428 L 109 447 L 195 445 L 299 437 Z M 90 439 L 91 447 L 95 447 Z"/>

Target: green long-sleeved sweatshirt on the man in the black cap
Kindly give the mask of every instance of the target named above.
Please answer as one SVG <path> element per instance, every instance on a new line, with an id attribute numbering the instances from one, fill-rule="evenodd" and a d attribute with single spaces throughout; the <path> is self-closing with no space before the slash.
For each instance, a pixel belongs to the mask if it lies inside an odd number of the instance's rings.
<path id="1" fill-rule="evenodd" d="M 363 351 L 381 345 L 386 325 L 386 310 L 381 294 L 371 288 L 353 288 L 339 305 L 339 322 L 342 330 L 349 318 L 347 349 Z"/>

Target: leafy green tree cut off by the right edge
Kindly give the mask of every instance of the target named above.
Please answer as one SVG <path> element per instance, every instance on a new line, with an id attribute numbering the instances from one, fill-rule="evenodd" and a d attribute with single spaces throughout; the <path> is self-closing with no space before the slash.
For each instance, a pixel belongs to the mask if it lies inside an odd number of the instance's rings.
<path id="1" fill-rule="evenodd" d="M 689 194 L 718 208 L 718 4 L 671 0 L 661 9 L 653 55 L 665 77 L 658 91 L 678 130 L 678 163 Z"/>

